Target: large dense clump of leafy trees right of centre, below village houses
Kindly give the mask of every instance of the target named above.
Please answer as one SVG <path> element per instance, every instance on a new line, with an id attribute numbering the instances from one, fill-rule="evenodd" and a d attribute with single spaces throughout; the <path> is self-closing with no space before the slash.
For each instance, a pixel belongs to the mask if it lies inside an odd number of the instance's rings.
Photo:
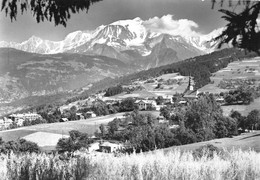
<path id="1" fill-rule="evenodd" d="M 134 110 L 125 119 L 114 119 L 108 123 L 108 131 L 102 133 L 102 137 L 129 141 L 140 152 L 238 134 L 240 121 L 235 116 L 224 117 L 213 94 L 200 95 L 197 101 L 180 108 L 175 108 L 176 112 L 169 107 L 162 108 L 161 113 L 169 119 L 169 124 L 160 124 L 153 116 Z M 172 124 L 179 125 L 179 128 L 171 129 Z"/>

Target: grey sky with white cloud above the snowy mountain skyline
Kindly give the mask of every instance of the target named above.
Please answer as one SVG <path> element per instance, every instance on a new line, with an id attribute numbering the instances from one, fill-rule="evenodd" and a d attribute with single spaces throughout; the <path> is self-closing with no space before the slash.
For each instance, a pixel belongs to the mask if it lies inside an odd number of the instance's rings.
<path id="1" fill-rule="evenodd" d="M 88 13 L 73 14 L 66 28 L 53 22 L 37 23 L 31 12 L 19 14 L 11 22 L 1 12 L 0 41 L 22 42 L 32 35 L 60 41 L 73 31 L 94 30 L 100 25 L 136 17 L 157 25 L 168 23 L 167 28 L 181 26 L 181 30 L 207 34 L 226 24 L 217 10 L 211 9 L 211 0 L 103 0 L 93 4 Z"/>

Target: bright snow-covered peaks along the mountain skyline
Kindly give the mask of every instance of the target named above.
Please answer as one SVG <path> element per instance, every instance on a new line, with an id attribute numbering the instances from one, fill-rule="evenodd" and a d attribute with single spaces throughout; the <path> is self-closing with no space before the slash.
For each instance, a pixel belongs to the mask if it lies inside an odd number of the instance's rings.
<path id="1" fill-rule="evenodd" d="M 188 43 L 204 53 L 212 51 L 207 43 L 212 37 L 217 36 L 222 28 L 212 31 L 209 34 L 183 34 L 171 36 L 175 42 Z M 167 32 L 167 31 L 165 31 Z M 165 33 L 164 32 L 164 33 Z M 145 26 L 145 21 L 137 17 L 135 19 L 119 20 L 108 25 L 101 25 L 93 31 L 75 31 L 69 33 L 62 41 L 43 40 L 32 36 L 22 43 L 0 42 L 0 47 L 13 47 L 23 51 L 53 54 L 61 52 L 88 52 L 93 50 L 95 44 L 104 44 L 115 48 L 115 50 L 136 50 L 147 55 L 151 48 L 158 43 L 162 32 L 152 31 Z M 153 40 L 153 39 L 157 40 Z M 185 41 L 185 42 L 184 42 Z M 152 43 L 152 44 L 149 44 Z"/>

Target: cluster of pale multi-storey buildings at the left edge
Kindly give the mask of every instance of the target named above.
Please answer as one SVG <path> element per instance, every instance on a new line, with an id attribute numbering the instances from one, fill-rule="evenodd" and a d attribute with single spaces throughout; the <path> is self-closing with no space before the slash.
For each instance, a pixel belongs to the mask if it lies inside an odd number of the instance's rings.
<path id="1" fill-rule="evenodd" d="M 41 115 L 37 113 L 11 114 L 8 117 L 0 119 L 0 129 L 7 129 L 14 123 L 17 126 L 23 126 L 25 120 L 35 121 L 36 119 L 42 119 Z"/>

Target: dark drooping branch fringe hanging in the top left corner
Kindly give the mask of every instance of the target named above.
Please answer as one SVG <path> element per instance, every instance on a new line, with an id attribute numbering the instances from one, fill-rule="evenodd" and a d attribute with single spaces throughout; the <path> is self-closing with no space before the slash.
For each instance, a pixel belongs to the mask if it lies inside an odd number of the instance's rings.
<path id="1" fill-rule="evenodd" d="M 31 11 L 38 23 L 47 20 L 54 21 L 55 25 L 66 26 L 71 14 L 84 10 L 88 12 L 90 5 L 99 1 L 101 0 L 3 0 L 2 11 L 11 20 L 16 20 L 19 3 L 21 13 Z"/>

